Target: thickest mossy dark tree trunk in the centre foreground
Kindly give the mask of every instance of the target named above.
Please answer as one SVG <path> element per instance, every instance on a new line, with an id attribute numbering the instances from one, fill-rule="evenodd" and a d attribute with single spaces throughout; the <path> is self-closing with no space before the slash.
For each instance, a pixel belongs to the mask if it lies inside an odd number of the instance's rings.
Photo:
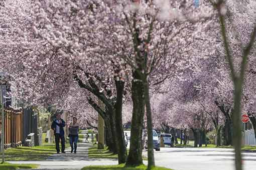
<path id="1" fill-rule="evenodd" d="M 136 166 L 143 164 L 142 160 L 142 129 L 145 112 L 144 87 L 140 76 L 136 71 L 133 72 L 132 82 L 133 117 L 131 128 L 131 139 L 129 155 L 126 165 Z M 139 79 L 139 80 L 138 80 Z"/>

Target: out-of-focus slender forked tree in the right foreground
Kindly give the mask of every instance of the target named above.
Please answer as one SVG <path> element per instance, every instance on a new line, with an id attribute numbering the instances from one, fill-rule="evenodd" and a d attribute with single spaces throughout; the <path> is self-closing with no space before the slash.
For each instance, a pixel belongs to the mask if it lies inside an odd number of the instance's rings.
<path id="1" fill-rule="evenodd" d="M 226 15 L 226 8 L 225 4 L 232 8 L 232 5 L 237 5 L 236 2 L 232 1 L 231 3 L 225 3 L 224 0 L 217 0 L 216 2 L 210 0 L 213 4 L 213 6 L 217 9 L 219 20 L 220 20 L 220 26 L 221 26 L 221 35 L 223 38 L 223 44 L 225 49 L 225 58 L 228 62 L 229 69 L 230 69 L 230 75 L 233 81 L 234 85 L 234 91 L 233 91 L 233 97 L 234 97 L 234 105 L 233 105 L 233 125 L 234 125 L 234 135 L 233 135 L 233 143 L 235 148 L 235 167 L 237 170 L 242 169 L 241 166 L 241 127 L 240 127 L 240 113 L 241 113 L 241 96 L 242 96 L 242 90 L 243 90 L 243 83 L 244 83 L 244 77 L 245 77 L 245 68 L 247 63 L 247 58 L 250 54 L 250 50 L 253 46 L 254 39 L 256 36 L 256 26 L 252 23 L 249 24 L 248 30 L 252 29 L 252 31 L 246 32 L 245 37 L 248 37 L 244 43 L 244 41 L 241 41 L 240 43 L 229 42 L 229 37 L 227 32 L 233 33 L 232 30 L 228 31 L 229 25 L 232 27 L 232 24 L 228 25 L 228 22 L 226 22 L 225 15 Z M 247 6 L 246 6 L 247 5 Z M 250 8 L 248 4 L 245 4 L 244 6 Z M 254 6 L 253 6 L 254 7 Z M 250 8 L 251 9 L 251 8 Z M 239 13 L 240 14 L 240 13 Z M 246 13 L 247 15 L 247 13 Z M 232 17 L 231 17 L 232 18 Z M 246 22 L 246 20 L 242 21 L 243 24 Z M 226 24 L 227 23 L 227 24 Z M 252 26 L 251 26 L 252 25 Z M 239 28 L 238 25 L 237 28 Z M 226 28 L 227 27 L 227 28 Z M 252 27 L 252 28 L 251 28 Z M 240 34 L 239 34 L 240 33 Z M 242 32 L 239 32 L 236 34 L 236 38 L 239 38 L 239 35 L 241 35 Z M 233 55 L 233 48 L 239 47 L 243 50 L 240 53 L 237 53 L 238 57 L 235 58 L 238 60 L 238 65 L 235 65 L 235 59 Z"/>

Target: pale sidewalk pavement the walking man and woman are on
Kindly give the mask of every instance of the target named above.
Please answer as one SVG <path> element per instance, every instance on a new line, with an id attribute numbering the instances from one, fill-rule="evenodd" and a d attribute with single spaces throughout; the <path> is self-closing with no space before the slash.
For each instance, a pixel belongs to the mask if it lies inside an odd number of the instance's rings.
<path id="1" fill-rule="evenodd" d="M 77 153 L 70 153 L 71 148 L 67 148 L 66 153 L 53 154 L 46 160 L 41 161 L 8 161 L 10 163 L 33 163 L 39 164 L 40 170 L 78 170 L 89 165 L 114 165 L 117 160 L 89 158 L 88 148 L 92 147 L 92 143 L 79 142 L 77 143 Z M 20 169 L 22 170 L 22 169 Z M 34 170 L 34 169 L 31 169 Z"/>

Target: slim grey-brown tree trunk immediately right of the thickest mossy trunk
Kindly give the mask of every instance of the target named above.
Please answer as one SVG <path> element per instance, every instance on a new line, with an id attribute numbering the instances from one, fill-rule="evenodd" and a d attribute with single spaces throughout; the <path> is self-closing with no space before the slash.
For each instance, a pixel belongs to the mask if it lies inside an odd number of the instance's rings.
<path id="1" fill-rule="evenodd" d="M 149 83 L 147 78 L 144 79 L 144 89 L 145 89 L 145 103 L 147 109 L 147 127 L 148 127 L 148 170 L 155 166 L 154 158 L 154 143 L 153 143 L 153 118 L 150 106 L 150 96 L 149 96 Z"/>

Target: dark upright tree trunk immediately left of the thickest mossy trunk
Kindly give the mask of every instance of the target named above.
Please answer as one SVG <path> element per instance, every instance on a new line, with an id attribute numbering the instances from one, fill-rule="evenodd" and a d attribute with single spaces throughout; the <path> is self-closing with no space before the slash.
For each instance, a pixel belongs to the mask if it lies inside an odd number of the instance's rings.
<path id="1" fill-rule="evenodd" d="M 123 128 L 122 128 L 122 94 L 124 88 L 123 81 L 115 80 L 116 86 L 116 102 L 115 102 L 115 120 L 116 120 L 116 141 L 118 151 L 118 163 L 126 162 L 126 145 L 124 140 Z"/>

